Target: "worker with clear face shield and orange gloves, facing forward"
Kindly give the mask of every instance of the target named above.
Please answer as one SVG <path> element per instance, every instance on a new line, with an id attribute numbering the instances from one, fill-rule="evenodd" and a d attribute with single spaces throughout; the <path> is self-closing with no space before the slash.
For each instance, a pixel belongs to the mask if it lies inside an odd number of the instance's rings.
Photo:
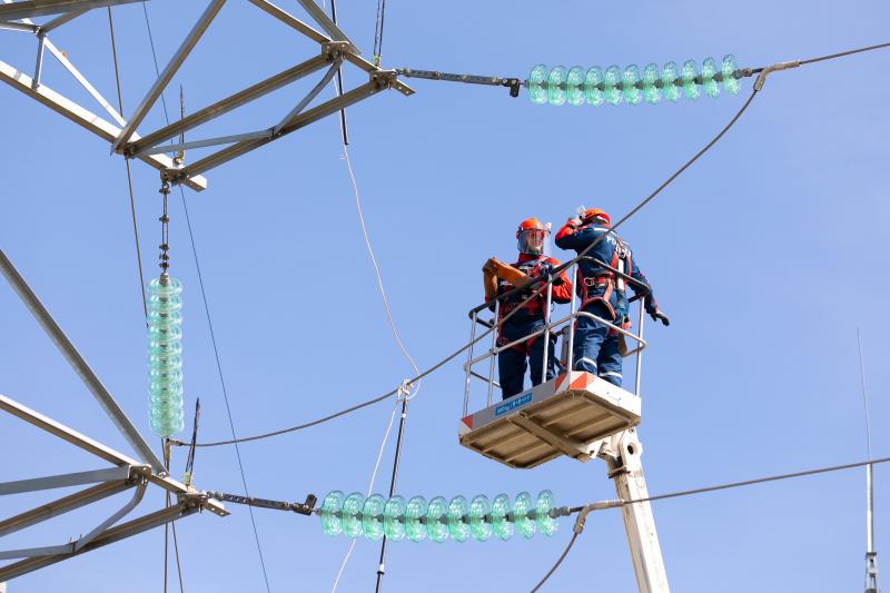
<path id="1" fill-rule="evenodd" d="M 560 261 L 544 255 L 544 246 L 550 228 L 544 227 L 537 218 L 527 218 L 520 224 L 516 230 L 518 260 L 514 264 L 504 264 L 496 257 L 491 257 L 483 266 L 485 283 L 485 299 L 493 300 L 497 297 L 501 322 L 507 314 L 520 307 L 532 293 L 542 286 L 535 283 L 526 286 L 524 290 L 513 291 L 513 288 L 526 285 L 531 279 L 552 275 Z M 565 273 L 561 271 L 553 280 L 551 298 L 555 303 L 568 303 L 572 299 L 572 283 Z M 544 377 L 544 346 L 547 347 L 546 378 L 556 375 L 554 342 L 556 336 L 548 335 L 545 340 L 543 334 L 531 336 L 542 329 L 548 319 L 547 293 L 542 290 L 522 308 L 511 315 L 498 327 L 497 345 L 503 347 L 513 342 L 517 344 L 504 348 L 497 355 L 497 369 L 501 380 L 503 398 L 514 396 L 523 391 L 525 370 L 532 367 L 532 385 L 537 385 Z M 491 305 L 494 308 L 494 303 Z M 527 338 L 527 339 L 523 339 Z M 528 364 L 531 363 L 531 365 Z"/>

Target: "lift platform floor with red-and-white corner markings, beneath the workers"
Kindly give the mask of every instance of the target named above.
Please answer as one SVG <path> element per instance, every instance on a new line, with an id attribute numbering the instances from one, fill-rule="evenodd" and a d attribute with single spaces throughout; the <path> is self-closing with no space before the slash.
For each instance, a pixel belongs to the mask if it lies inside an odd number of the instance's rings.
<path id="1" fill-rule="evenodd" d="M 511 467 L 560 455 L 586 462 L 604 438 L 640 424 L 640 397 L 582 370 L 564 373 L 461 419 L 467 448 Z"/>

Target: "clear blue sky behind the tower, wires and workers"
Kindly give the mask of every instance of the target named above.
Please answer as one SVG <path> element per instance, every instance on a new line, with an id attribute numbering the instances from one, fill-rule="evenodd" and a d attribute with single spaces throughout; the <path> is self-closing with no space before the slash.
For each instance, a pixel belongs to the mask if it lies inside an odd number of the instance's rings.
<path id="1" fill-rule="evenodd" d="M 299 13 L 295 2 L 281 2 Z M 148 3 L 158 58 L 179 45 L 204 2 Z M 340 22 L 369 56 L 376 2 L 340 0 Z M 154 78 L 142 9 L 115 9 L 125 111 Z M 742 4 L 682 1 L 387 2 L 384 63 L 526 76 L 535 63 L 584 67 L 681 62 L 732 52 L 758 67 L 887 41 L 890 8 L 874 1 Z M 52 36 L 109 99 L 113 71 L 105 11 Z M 32 68 L 34 40 L 3 32 L 0 59 Z M 189 110 L 316 51 L 246 2 L 228 3 L 177 76 Z M 623 227 L 671 315 L 650 326 L 642 382 L 650 491 L 664 493 L 866 456 L 856 330 L 862 332 L 872 447 L 883 427 L 887 51 L 774 75 L 740 122 Z M 89 98 L 48 59 L 44 80 Z M 349 70 L 347 83 L 360 81 Z M 280 91 L 206 131 L 267 127 L 313 81 Z M 637 107 L 533 106 L 505 89 L 411 81 L 348 111 L 350 154 L 389 302 L 403 339 L 428 367 L 468 338 L 486 257 L 513 257 L 516 224 L 558 226 L 576 206 L 613 218 L 691 157 L 750 89 L 716 100 Z M 328 91 L 326 91 L 328 93 Z M 329 95 L 328 95 L 329 96 Z M 3 216 L 0 245 L 108 388 L 149 436 L 142 305 L 123 164 L 89 132 L 0 88 Z M 171 109 L 176 98 L 168 96 Z M 98 109 L 98 108 L 97 108 Z M 147 126 L 164 122 L 158 105 Z M 192 138 L 192 139 L 194 139 Z M 360 236 L 339 132 L 328 118 L 208 172 L 186 191 L 238 434 L 299 424 L 395 387 L 411 368 L 393 344 Z M 189 155 L 194 160 L 197 155 Z M 157 271 L 157 174 L 134 166 L 146 275 Z M 185 284 L 186 394 L 202 404 L 201 438 L 229 436 L 178 192 L 171 271 Z M 556 257 L 567 258 L 558 250 Z M 0 287 L 6 339 L 0 393 L 121 451 L 126 443 L 11 289 Z M 551 488 L 561 504 L 614 496 L 602 462 L 558 459 L 514 471 L 456 439 L 463 373 L 452 363 L 412 401 L 398 492 L 451 497 Z M 482 405 L 482 396 L 475 398 Z M 241 448 L 251 494 L 303 500 L 364 491 L 395 403 Z M 154 441 L 152 441 L 154 442 Z M 2 480 L 98 467 L 87 454 L 0 416 Z M 388 485 L 392 439 L 378 492 Z M 180 473 L 185 452 L 175 452 Z M 235 452 L 201 449 L 201 488 L 239 492 Z M 876 468 L 879 564 L 888 550 L 887 471 Z M 0 501 L 4 516 L 58 493 Z M 4 547 L 61 543 L 122 500 L 8 537 Z M 140 508 L 162 503 L 152 493 Z M 178 524 L 189 591 L 264 589 L 247 510 Z M 863 471 L 654 505 L 674 591 L 834 592 L 860 586 Z M 348 546 L 316 518 L 256 512 L 274 591 L 327 591 Z M 551 540 L 397 543 L 387 591 L 523 591 L 556 559 Z M 13 581 L 10 592 L 158 591 L 155 531 Z M 373 586 L 378 545 L 359 541 L 339 591 Z M 126 585 L 123 584 L 126 583 Z M 594 514 L 550 591 L 634 590 L 617 512 Z"/>

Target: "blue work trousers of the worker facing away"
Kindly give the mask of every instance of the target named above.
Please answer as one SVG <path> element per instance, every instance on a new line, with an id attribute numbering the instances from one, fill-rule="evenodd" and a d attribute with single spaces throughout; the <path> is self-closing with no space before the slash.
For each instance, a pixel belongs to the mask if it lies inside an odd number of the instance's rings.
<path id="1" fill-rule="evenodd" d="M 585 312 L 610 320 L 612 315 L 602 303 L 591 303 Z M 613 322 L 614 323 L 614 322 Z M 617 323 L 615 325 L 619 325 Z M 609 327 L 591 319 L 578 317 L 575 323 L 575 347 L 573 353 L 575 370 L 593 373 L 609 383 L 621 387 L 622 357 L 619 350 L 621 334 L 609 334 Z"/>

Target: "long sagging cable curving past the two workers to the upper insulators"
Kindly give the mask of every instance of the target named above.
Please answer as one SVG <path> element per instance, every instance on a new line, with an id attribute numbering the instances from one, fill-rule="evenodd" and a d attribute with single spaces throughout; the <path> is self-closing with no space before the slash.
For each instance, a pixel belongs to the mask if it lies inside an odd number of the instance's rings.
<path id="1" fill-rule="evenodd" d="M 701 149 L 701 150 L 700 150 L 700 151 L 699 151 L 699 152 L 698 152 L 698 154 L 696 154 L 694 157 L 692 157 L 692 159 L 690 159 L 689 161 L 686 161 L 686 164 L 685 164 L 685 165 L 683 165 L 683 166 L 682 166 L 680 169 L 678 169 L 678 170 L 676 170 L 676 171 L 675 171 L 673 175 L 671 175 L 671 177 L 669 177 L 666 181 L 664 181 L 664 182 L 663 182 L 661 186 L 659 186 L 659 188 L 657 188 L 657 189 L 655 189 L 655 191 L 653 191 L 652 194 L 650 194 L 650 195 L 649 195 L 649 196 L 647 196 L 647 197 L 646 197 L 646 198 L 645 198 L 643 201 L 641 201 L 641 202 L 640 202 L 640 204 L 639 204 L 636 207 L 634 207 L 634 208 L 633 208 L 633 209 L 632 209 L 632 210 L 631 210 L 629 214 L 626 214 L 624 217 L 622 217 L 622 218 L 621 218 L 621 220 L 619 220 L 619 221 L 617 221 L 617 223 L 616 223 L 616 224 L 615 224 L 615 225 L 612 227 L 612 229 L 614 230 L 615 228 L 617 228 L 619 226 L 621 226 L 622 224 L 624 224 L 624 223 L 625 223 L 625 221 L 626 221 L 626 220 L 627 220 L 627 219 L 629 219 L 631 216 L 633 216 L 633 215 L 635 215 L 637 211 L 640 211 L 640 209 L 641 209 L 641 208 L 643 208 L 643 207 L 644 207 L 646 204 L 649 204 L 649 202 L 650 202 L 652 199 L 654 199 L 654 198 L 655 198 L 655 196 L 657 196 L 657 195 L 659 195 L 659 194 L 660 194 L 660 192 L 661 192 L 661 191 L 662 191 L 662 190 L 663 190 L 665 187 L 668 187 L 668 185 L 669 185 L 671 181 L 673 181 L 674 179 L 676 179 L 676 177 L 678 177 L 680 174 L 682 174 L 682 172 L 683 172 L 683 171 L 684 171 L 686 168 L 689 168 L 689 166 L 690 166 L 690 165 L 692 165 L 693 162 L 695 162 L 695 160 L 698 160 L 698 159 L 699 159 L 699 157 L 701 157 L 701 156 L 702 156 L 704 152 L 706 152 L 706 151 L 708 151 L 708 150 L 709 150 L 709 149 L 710 149 L 712 146 L 714 146 L 714 144 L 715 144 L 718 140 L 720 140 L 720 138 L 722 138 L 722 137 L 723 137 L 723 135 L 725 135 L 725 134 L 726 134 L 726 131 L 729 131 L 729 129 L 730 129 L 730 128 L 731 128 L 731 127 L 732 127 L 732 126 L 733 126 L 733 125 L 734 125 L 734 123 L 735 123 L 735 122 L 739 120 L 739 118 L 742 116 L 742 113 L 745 111 L 745 109 L 748 109 L 748 106 L 749 106 L 749 105 L 751 105 L 751 101 L 753 100 L 753 98 L 755 97 L 755 95 L 756 95 L 756 91 L 753 91 L 753 92 L 751 93 L 751 96 L 750 96 L 750 97 L 748 98 L 748 100 L 744 102 L 744 105 L 742 106 L 742 108 L 741 108 L 741 109 L 740 109 L 740 110 L 739 110 L 739 111 L 735 113 L 735 116 L 732 118 L 732 120 L 731 120 L 731 121 L 730 121 L 730 122 L 729 122 L 729 123 L 728 123 L 728 125 L 726 125 L 726 126 L 725 126 L 725 127 L 724 127 L 724 128 L 723 128 L 723 129 L 720 131 L 720 134 L 718 134 L 718 135 L 716 135 L 716 136 L 715 136 L 715 137 L 714 137 L 714 138 L 713 138 L 713 139 L 712 139 L 710 142 L 708 142 L 708 145 L 706 145 L 706 146 L 705 146 L 703 149 Z M 584 256 L 584 255 L 585 255 L 587 251 L 590 251 L 590 249 L 592 249 L 593 247 L 595 247 L 595 246 L 596 246 L 596 245 L 597 245 L 597 244 L 599 244 L 599 243 L 600 243 L 600 241 L 601 241 L 601 240 L 602 240 L 604 237 L 605 237 L 605 235 L 601 235 L 601 236 L 600 236 L 600 237 L 599 237 L 596 240 L 594 240 L 594 241 L 593 241 L 593 243 L 592 243 L 590 246 L 587 246 L 587 248 L 586 248 L 586 249 L 584 249 L 584 250 L 583 250 L 581 254 L 578 254 L 578 255 L 577 255 L 575 258 L 573 258 L 573 259 L 571 259 L 571 260 L 566 261 L 565 264 L 563 264 L 562 266 L 560 266 L 560 268 L 558 268 L 558 269 L 565 269 L 565 268 L 567 268 L 567 267 L 570 267 L 570 266 L 572 266 L 573 264 L 575 264 L 575 263 L 576 263 L 578 259 L 581 259 L 581 257 L 583 257 L 583 256 Z M 413 378 L 408 379 L 408 382 L 409 382 L 409 383 L 416 383 L 416 382 L 418 382 L 418 380 L 423 379 L 424 377 L 426 377 L 427 375 L 429 375 L 429 374 L 432 374 L 432 373 L 435 373 L 435 372 L 436 372 L 436 370 L 438 370 L 441 367 L 443 367 L 444 365 L 446 365 L 447 363 L 449 363 L 451 360 L 453 360 L 454 358 L 456 358 L 457 356 L 459 356 L 461 354 L 463 354 L 464 352 L 466 352 L 466 350 L 467 350 L 467 349 L 468 349 L 471 346 L 474 346 L 474 345 L 475 345 L 475 344 L 477 344 L 478 342 L 483 340 L 483 339 L 484 339 L 484 338 L 485 338 L 485 337 L 486 337 L 488 334 L 491 334 L 492 332 L 494 332 L 494 329 L 495 329 L 495 328 L 497 328 L 498 326 L 503 325 L 503 324 L 504 324 L 504 323 L 505 323 L 507 319 L 510 319 L 510 318 L 511 318 L 511 317 L 512 317 L 514 314 L 516 314 L 518 310 L 521 310 L 521 309 L 522 309 L 522 305 L 523 305 L 523 304 L 525 304 L 525 303 L 528 303 L 530 300 L 532 300 L 533 298 L 535 298 L 537 295 L 540 295 L 540 294 L 541 294 L 541 293 L 544 290 L 544 288 L 546 288 L 546 284 L 543 284 L 541 287 L 538 287 L 537 289 L 535 289 L 535 290 L 532 293 L 532 295 L 531 295 L 528 298 L 526 298 L 526 299 L 525 299 L 523 303 L 521 303 L 521 304 L 520 304 L 520 306 L 515 307 L 515 308 L 514 308 L 512 312 L 510 312 L 508 314 L 506 314 L 505 316 L 503 316 L 503 317 L 502 317 L 502 318 L 501 318 L 501 319 L 500 319 L 497 323 L 493 324 L 493 327 L 491 327 L 491 328 L 486 329 L 486 330 L 485 330 L 485 332 L 483 332 L 483 333 L 482 333 L 479 336 L 477 336 L 475 339 L 473 339 L 473 340 L 471 340 L 469 343 L 467 343 L 467 344 L 463 345 L 461 348 L 458 348 L 457 350 L 453 352 L 452 354 L 449 354 L 448 356 L 446 356 L 445 358 L 443 358 L 442 360 L 439 360 L 438 363 L 436 363 L 436 364 L 435 364 L 435 365 L 433 365 L 432 367 L 427 368 L 427 369 L 426 369 L 426 370 L 424 370 L 423 373 L 419 373 L 417 376 L 415 376 L 415 377 L 413 377 Z M 378 396 L 378 397 L 375 397 L 375 398 L 373 398 L 373 399 L 368 399 L 368 401 L 366 401 L 366 402 L 363 402 L 363 403 L 360 403 L 360 404 L 357 404 L 357 405 L 355 405 L 355 406 L 352 406 L 352 407 L 349 407 L 349 408 L 346 408 L 346 409 L 343 409 L 343 411 L 340 411 L 340 412 L 337 412 L 337 413 L 330 414 L 330 415 L 328 415 L 328 416 L 325 416 L 325 417 L 323 417 L 323 418 L 319 418 L 319 419 L 317 419 L 317 421 L 313 421 L 313 422 L 308 422 L 308 423 L 306 423 L 306 424 L 300 424 L 300 425 L 297 425 L 297 426 L 291 426 L 291 427 L 288 427 L 288 428 L 281 428 L 281 429 L 278 429 L 278 431 L 273 431 L 273 432 L 269 432 L 269 433 L 264 433 L 264 434 L 259 434 L 259 435 L 255 435 L 255 436 L 243 437 L 243 438 L 239 438 L 239 439 L 237 439 L 237 442 L 238 442 L 238 443 L 245 443 L 245 442 L 248 442 L 248 441 L 259 441 L 259 439 L 263 439 L 263 438 L 269 438 L 269 437 L 273 437 L 273 436 L 278 436 L 278 435 L 281 435 L 281 434 L 286 434 L 286 433 L 293 433 L 293 432 L 296 432 L 296 431 L 301 431 L 301 429 L 304 429 L 304 428 L 309 428 L 309 427 L 312 427 L 312 426 L 316 426 L 316 425 L 318 425 L 318 424 L 323 424 L 323 423 L 325 423 L 325 422 L 332 421 L 332 419 L 334 419 L 334 418 L 337 418 L 337 417 L 339 417 L 339 416 L 344 416 L 344 415 L 346 415 L 346 414 L 349 414 L 349 413 L 352 413 L 352 412 L 355 412 L 355 411 L 357 411 L 357 409 L 360 409 L 360 408 L 363 408 L 363 407 L 367 407 L 367 406 L 374 405 L 374 404 L 376 404 L 376 403 L 378 403 L 378 402 L 383 402 L 384 399 L 386 399 L 386 398 L 388 398 L 388 397 L 390 397 L 390 396 L 395 395 L 396 393 L 398 393 L 398 388 L 395 388 L 395 389 L 393 389 L 393 391 L 390 391 L 390 392 L 388 392 L 388 393 L 386 393 L 386 394 L 384 394 L 384 395 L 380 395 L 380 396 Z M 212 442 L 212 443 L 198 443 L 196 446 L 199 446 L 199 447 L 214 447 L 214 446 L 220 446 L 220 445 L 231 445 L 231 444 L 235 444 L 235 442 L 236 442 L 235 439 L 229 439 L 229 441 L 217 441 L 217 442 Z M 181 443 L 181 442 L 179 442 L 179 443 L 175 442 L 174 444 L 177 444 L 177 445 L 182 445 L 184 443 Z"/>

